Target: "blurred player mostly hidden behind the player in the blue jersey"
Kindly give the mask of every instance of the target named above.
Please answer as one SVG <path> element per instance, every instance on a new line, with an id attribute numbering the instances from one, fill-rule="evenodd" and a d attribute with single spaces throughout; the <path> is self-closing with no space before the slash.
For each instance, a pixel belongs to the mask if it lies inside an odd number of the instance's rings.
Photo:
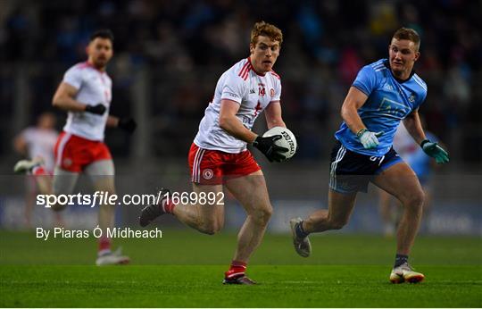
<path id="1" fill-rule="evenodd" d="M 424 124 L 422 117 L 420 121 Z M 426 131 L 425 135 L 432 141 L 437 141 L 438 138 L 432 133 Z M 436 168 L 436 164 L 430 160 L 430 157 L 423 152 L 420 146 L 411 138 L 410 133 L 405 129 L 403 123 L 396 129 L 394 137 L 394 149 L 403 161 L 411 167 L 419 178 L 420 185 L 425 193 L 425 200 L 423 204 L 423 216 L 420 230 L 423 231 L 425 222 L 428 222 L 428 213 L 430 210 L 431 200 L 431 179 L 433 171 Z M 394 203 L 395 199 L 384 190 L 379 190 L 379 209 L 382 221 L 384 223 L 383 232 L 386 237 L 392 237 L 395 233 L 395 228 L 399 221 L 398 203 Z M 395 205 L 394 205 L 395 204 Z M 427 226 L 426 226 L 427 228 Z"/>

